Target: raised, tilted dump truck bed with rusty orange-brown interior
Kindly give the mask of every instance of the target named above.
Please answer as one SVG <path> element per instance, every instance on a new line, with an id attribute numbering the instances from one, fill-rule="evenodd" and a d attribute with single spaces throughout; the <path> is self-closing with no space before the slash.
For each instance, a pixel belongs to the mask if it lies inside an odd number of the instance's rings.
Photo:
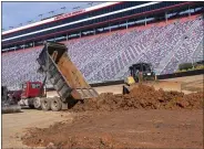
<path id="1" fill-rule="evenodd" d="M 47 74 L 62 103 L 96 97 L 98 93 L 85 82 L 67 51 L 64 44 L 45 42 L 37 60 L 40 71 Z"/>

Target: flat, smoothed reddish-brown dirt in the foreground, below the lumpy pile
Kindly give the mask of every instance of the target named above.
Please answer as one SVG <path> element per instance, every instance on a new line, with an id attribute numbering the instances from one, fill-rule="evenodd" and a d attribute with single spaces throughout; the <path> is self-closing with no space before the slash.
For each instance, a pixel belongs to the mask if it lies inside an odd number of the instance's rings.
<path id="1" fill-rule="evenodd" d="M 31 147 L 203 148 L 203 110 L 80 113 L 73 123 L 29 131 L 22 140 Z"/>

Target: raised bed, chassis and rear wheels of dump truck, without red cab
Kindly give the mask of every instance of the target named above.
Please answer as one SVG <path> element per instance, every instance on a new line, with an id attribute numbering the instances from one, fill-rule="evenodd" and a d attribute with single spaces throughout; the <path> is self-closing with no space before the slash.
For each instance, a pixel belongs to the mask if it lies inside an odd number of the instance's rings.
<path id="1" fill-rule="evenodd" d="M 45 74 L 43 84 L 49 79 L 60 97 L 47 98 L 39 95 L 35 98 L 21 99 L 24 100 L 21 103 L 27 103 L 27 106 L 33 105 L 34 108 L 57 111 L 71 108 L 80 99 L 98 97 L 99 94 L 85 82 L 67 51 L 64 44 L 45 42 L 37 58 L 40 65 L 39 72 Z"/>

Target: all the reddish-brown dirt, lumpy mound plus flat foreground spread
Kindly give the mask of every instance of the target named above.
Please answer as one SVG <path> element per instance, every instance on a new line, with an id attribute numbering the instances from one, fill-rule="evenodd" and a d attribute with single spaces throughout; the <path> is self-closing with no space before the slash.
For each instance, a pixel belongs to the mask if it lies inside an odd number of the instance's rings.
<path id="1" fill-rule="evenodd" d="M 32 128 L 21 139 L 48 148 L 202 148 L 202 108 L 203 93 L 139 85 L 128 95 L 105 93 L 78 103 L 72 123 Z"/>

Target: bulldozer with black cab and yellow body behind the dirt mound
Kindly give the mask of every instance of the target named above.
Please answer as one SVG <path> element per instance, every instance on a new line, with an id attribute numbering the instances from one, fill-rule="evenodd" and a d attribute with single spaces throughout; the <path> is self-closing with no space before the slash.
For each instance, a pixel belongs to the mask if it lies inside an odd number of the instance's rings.
<path id="1" fill-rule="evenodd" d="M 135 83 L 155 81 L 155 73 L 150 63 L 137 63 L 129 67 L 130 76 L 124 79 L 123 94 L 130 93 Z"/>

